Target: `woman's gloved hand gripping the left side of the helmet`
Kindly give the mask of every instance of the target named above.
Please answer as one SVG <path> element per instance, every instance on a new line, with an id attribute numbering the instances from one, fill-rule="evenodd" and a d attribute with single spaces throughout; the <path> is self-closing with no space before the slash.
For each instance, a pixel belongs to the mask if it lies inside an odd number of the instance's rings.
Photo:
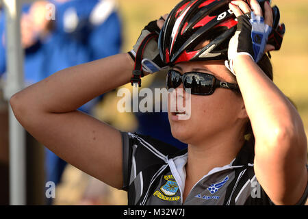
<path id="1" fill-rule="evenodd" d="M 151 33 L 157 34 L 156 38 L 153 38 L 148 44 L 146 44 L 144 53 L 142 55 L 142 69 L 144 70 L 144 75 L 147 75 L 149 73 L 156 73 L 159 70 L 162 70 L 164 67 L 166 67 L 166 64 L 162 62 L 162 59 L 159 55 L 159 49 L 158 49 L 158 43 L 157 39 L 159 36 L 160 29 L 164 26 L 164 22 L 166 18 L 168 17 L 168 14 L 165 14 L 164 16 L 161 16 L 159 20 L 157 21 L 151 21 L 144 29 L 142 30 L 136 44 L 133 46 L 133 50 L 129 52 L 131 57 L 133 58 L 133 61 L 135 62 L 136 53 L 138 52 L 138 49 L 140 48 L 140 45 L 142 44 L 142 41 L 146 36 L 148 36 Z"/>

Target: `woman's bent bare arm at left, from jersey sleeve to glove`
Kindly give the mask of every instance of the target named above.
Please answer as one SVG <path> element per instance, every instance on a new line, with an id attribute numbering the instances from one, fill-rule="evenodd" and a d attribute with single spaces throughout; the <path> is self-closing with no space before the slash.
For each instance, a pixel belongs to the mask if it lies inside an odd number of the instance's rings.
<path id="1" fill-rule="evenodd" d="M 105 92 L 129 83 L 128 54 L 61 70 L 10 99 L 18 121 L 34 138 L 66 162 L 121 188 L 120 132 L 77 109 Z"/>

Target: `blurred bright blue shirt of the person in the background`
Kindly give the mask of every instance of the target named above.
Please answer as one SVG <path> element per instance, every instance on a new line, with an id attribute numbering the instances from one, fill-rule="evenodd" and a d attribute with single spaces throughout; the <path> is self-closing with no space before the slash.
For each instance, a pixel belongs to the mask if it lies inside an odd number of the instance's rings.
<path id="1" fill-rule="evenodd" d="M 44 40 L 25 49 L 24 74 L 26 86 L 53 73 L 103 57 L 120 53 L 121 23 L 109 1 L 81 0 L 55 3 L 55 27 Z M 23 7 L 23 12 L 29 5 Z M 103 15 L 103 16 L 102 16 Z M 72 25 L 73 24 L 73 25 Z M 5 31 L 5 16 L 0 14 L 0 36 Z M 1 40 L 2 41 L 2 40 Z M 0 76 L 5 73 L 5 45 L 0 44 Z M 5 75 L 4 75 L 5 78 Z M 79 108 L 90 113 L 97 100 Z"/>

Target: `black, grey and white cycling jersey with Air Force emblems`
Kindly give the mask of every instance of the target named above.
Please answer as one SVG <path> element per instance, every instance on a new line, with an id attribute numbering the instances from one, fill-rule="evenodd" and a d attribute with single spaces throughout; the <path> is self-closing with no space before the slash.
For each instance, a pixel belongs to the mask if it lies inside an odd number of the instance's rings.
<path id="1" fill-rule="evenodd" d="M 209 171 L 183 203 L 188 149 L 150 136 L 121 132 L 123 190 L 129 205 L 272 205 L 253 168 L 254 146 L 245 142 L 231 164 Z M 298 205 L 304 205 L 308 188 Z"/>

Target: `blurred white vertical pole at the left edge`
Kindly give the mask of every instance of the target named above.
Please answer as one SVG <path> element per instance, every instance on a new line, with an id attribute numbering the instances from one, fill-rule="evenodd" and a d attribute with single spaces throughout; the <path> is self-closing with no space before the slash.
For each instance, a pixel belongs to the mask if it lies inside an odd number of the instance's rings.
<path id="1" fill-rule="evenodd" d="M 21 2 L 3 0 L 6 16 L 6 48 L 8 78 L 4 90 L 5 99 L 24 88 L 23 49 L 21 47 Z M 10 108 L 10 205 L 26 204 L 25 181 L 25 130 L 16 120 Z"/>

